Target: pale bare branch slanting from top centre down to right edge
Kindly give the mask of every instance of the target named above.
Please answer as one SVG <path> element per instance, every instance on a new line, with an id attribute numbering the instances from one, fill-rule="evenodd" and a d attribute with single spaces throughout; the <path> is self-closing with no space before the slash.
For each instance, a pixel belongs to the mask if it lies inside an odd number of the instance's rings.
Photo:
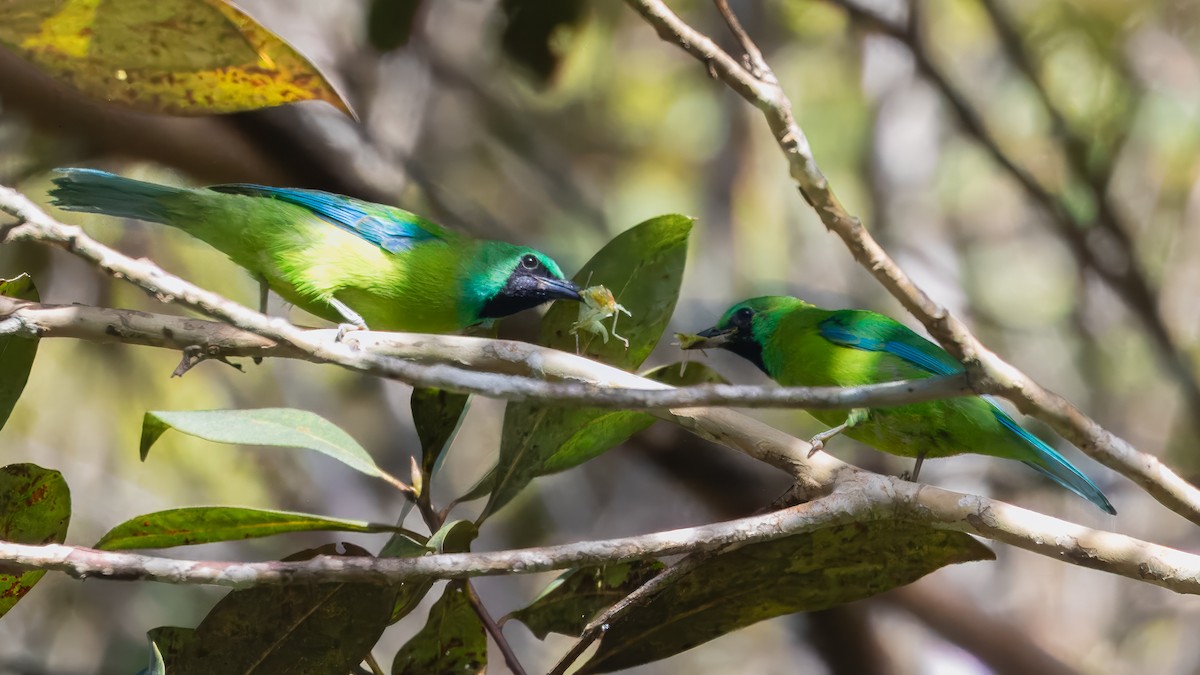
<path id="1" fill-rule="evenodd" d="M 1200 490 L 1183 480 L 1157 458 L 1140 453 L 1088 418 L 1062 396 L 988 350 L 958 317 L 935 303 L 895 263 L 863 223 L 841 205 L 812 156 L 792 104 L 779 86 L 751 77 L 737 60 L 706 35 L 688 25 L 661 0 L 626 0 L 665 41 L 704 64 L 726 85 L 754 103 L 775 135 L 800 195 L 829 231 L 842 239 L 854 259 L 967 369 L 976 392 L 997 392 L 1025 413 L 1054 429 L 1097 461 L 1138 483 L 1164 506 L 1200 524 Z"/>

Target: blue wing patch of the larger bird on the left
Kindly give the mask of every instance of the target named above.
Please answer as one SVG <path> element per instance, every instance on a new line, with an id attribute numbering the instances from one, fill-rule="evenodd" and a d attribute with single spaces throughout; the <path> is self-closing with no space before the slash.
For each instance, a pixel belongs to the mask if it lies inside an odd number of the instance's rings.
<path id="1" fill-rule="evenodd" d="M 209 190 L 268 197 L 304 207 L 330 223 L 391 253 L 407 251 L 420 241 L 442 238 L 440 227 L 418 215 L 332 192 L 250 184 L 212 185 Z"/>

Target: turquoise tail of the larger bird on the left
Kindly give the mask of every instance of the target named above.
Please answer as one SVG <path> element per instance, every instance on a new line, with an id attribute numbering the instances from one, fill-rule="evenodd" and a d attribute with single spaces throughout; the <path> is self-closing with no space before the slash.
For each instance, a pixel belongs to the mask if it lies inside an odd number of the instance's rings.
<path id="1" fill-rule="evenodd" d="M 169 223 L 170 210 L 163 202 L 185 189 L 157 185 L 97 169 L 56 169 L 50 190 L 53 204 L 68 211 Z"/>

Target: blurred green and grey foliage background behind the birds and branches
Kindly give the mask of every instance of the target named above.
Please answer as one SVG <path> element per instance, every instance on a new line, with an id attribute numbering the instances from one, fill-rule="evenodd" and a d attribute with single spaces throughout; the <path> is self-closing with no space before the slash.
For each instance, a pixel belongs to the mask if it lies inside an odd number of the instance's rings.
<path id="1" fill-rule="evenodd" d="M 695 330 L 732 300 L 784 292 L 913 323 L 799 198 L 758 113 L 623 4 L 239 5 L 320 66 L 361 124 L 322 103 L 152 117 L 86 101 L 0 49 L 0 183 L 44 201 L 48 169 L 96 166 L 160 181 L 318 187 L 535 244 L 568 273 L 616 233 L 684 213 L 698 221 L 668 330 Z M 712 4 L 671 5 L 733 48 Z M 1200 358 L 1200 10 L 1177 0 L 941 0 L 918 2 L 917 14 L 902 2 L 853 12 L 836 1 L 731 5 L 779 74 L 833 187 L 916 281 L 1003 358 L 1195 480 L 1200 408 L 1187 381 L 1198 374 L 1186 357 Z M 871 16 L 895 29 L 880 30 Z M 1066 237 L 964 125 L 930 66 L 1003 153 L 1060 198 L 1070 216 Z M 1121 237 L 1088 227 L 1102 208 L 1116 215 L 1128 251 Z M 180 232 L 55 215 L 206 288 L 256 301 L 246 275 Z M 1150 303 L 1130 309 L 1081 267 L 1073 237 L 1141 274 L 1157 289 Z M 22 271 L 43 301 L 175 311 L 56 251 L 0 249 L 0 276 Z M 1160 313 L 1183 359 L 1158 358 L 1163 346 L 1141 321 L 1147 310 Z M 529 338 L 532 327 L 515 317 L 502 333 Z M 676 359 L 664 344 L 647 365 Z M 164 351 L 42 342 L 0 450 L 6 462 L 62 471 L 76 503 L 68 542 L 91 544 L 136 514 L 192 504 L 395 519 L 397 494 L 325 458 L 174 434 L 142 464 L 137 441 L 146 410 L 294 406 L 341 425 L 382 466 L 404 473 L 418 452 L 407 387 L 282 360 L 246 364 L 245 374 L 208 363 L 173 380 L 176 363 Z M 710 363 L 736 382 L 766 381 L 728 354 Z M 454 488 L 442 495 L 466 491 L 491 465 L 502 412 L 494 401 L 473 402 L 440 478 Z M 755 414 L 797 435 L 818 430 L 800 412 Z M 848 438 L 830 450 L 878 471 L 908 468 Z M 1015 462 L 962 456 L 932 462 L 922 477 L 1200 546 L 1193 525 L 1067 452 L 1120 516 L 1098 514 Z M 582 468 L 539 479 L 475 549 L 745 515 L 785 486 L 769 468 L 658 425 Z M 368 549 L 383 542 L 292 536 L 173 555 L 268 560 L 335 539 Z M 638 671 L 1006 673 L 1019 671 L 1018 657 L 1037 655 L 1062 673 L 1200 669 L 1200 643 L 1188 638 L 1200 629 L 1200 605 L 1188 598 L 995 548 L 996 563 L 763 622 Z M 482 579 L 478 587 L 498 616 L 551 577 Z M 222 592 L 47 577 L 0 621 L 0 670 L 132 673 L 144 663 L 148 628 L 194 625 Z M 389 629 L 379 652 L 403 644 L 426 611 Z M 516 623 L 506 634 L 530 670 L 547 669 L 570 644 L 557 635 L 540 644 Z"/>

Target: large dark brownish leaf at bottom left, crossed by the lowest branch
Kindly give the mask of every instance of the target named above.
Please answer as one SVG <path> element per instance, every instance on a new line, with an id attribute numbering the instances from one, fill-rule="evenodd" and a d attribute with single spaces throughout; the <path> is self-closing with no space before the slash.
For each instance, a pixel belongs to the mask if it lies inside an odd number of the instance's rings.
<path id="1" fill-rule="evenodd" d="M 338 552 L 343 546 L 346 552 Z M 329 544 L 284 560 L 370 555 Z M 233 591 L 169 659 L 170 675 L 350 673 L 391 615 L 394 595 L 376 584 L 290 584 Z"/>

